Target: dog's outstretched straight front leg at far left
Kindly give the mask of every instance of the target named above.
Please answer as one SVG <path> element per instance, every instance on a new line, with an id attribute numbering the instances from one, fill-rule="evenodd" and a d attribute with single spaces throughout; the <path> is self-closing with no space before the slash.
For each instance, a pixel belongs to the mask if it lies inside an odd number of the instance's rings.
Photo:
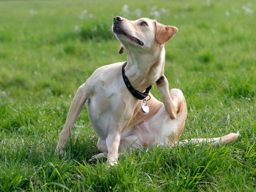
<path id="1" fill-rule="evenodd" d="M 60 139 L 56 148 L 56 153 L 60 151 L 60 153 L 63 152 L 62 148 L 65 146 L 66 142 L 69 140 L 72 127 L 74 126 L 76 119 L 81 112 L 84 103 L 86 101 L 86 94 L 85 94 L 85 84 L 82 84 L 75 95 L 74 100 L 72 101 L 72 104 L 70 106 L 70 109 L 68 111 L 67 120 L 64 124 L 64 127 L 62 129 L 62 132 L 60 133 Z"/>

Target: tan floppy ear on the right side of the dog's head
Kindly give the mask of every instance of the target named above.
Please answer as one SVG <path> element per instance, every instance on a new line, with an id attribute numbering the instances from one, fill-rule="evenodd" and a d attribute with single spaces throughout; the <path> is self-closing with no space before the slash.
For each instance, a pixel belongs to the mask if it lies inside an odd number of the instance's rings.
<path id="1" fill-rule="evenodd" d="M 166 26 L 156 21 L 155 21 L 155 24 L 156 24 L 156 41 L 159 44 L 165 44 L 178 31 L 178 28 L 174 26 Z"/>

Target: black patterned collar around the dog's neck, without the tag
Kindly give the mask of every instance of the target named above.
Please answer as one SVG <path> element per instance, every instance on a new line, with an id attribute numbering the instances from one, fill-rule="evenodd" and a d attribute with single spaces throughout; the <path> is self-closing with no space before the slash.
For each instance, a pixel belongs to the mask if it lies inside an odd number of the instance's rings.
<path id="1" fill-rule="evenodd" d="M 141 93 L 138 90 L 134 89 L 133 86 L 131 85 L 130 81 L 128 80 L 128 77 L 124 75 L 125 73 L 125 66 L 127 65 L 127 61 L 124 63 L 123 67 L 122 67 L 122 75 L 123 75 L 123 79 L 124 79 L 124 83 L 127 87 L 127 89 L 132 93 L 132 95 L 134 97 L 136 97 L 139 100 L 145 99 L 148 96 L 148 92 L 151 89 L 152 85 L 150 85 L 145 92 Z"/>

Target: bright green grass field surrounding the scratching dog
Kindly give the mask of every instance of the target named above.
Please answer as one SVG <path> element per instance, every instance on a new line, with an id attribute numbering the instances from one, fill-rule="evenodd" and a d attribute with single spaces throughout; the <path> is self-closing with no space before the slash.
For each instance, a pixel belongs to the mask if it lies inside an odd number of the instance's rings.
<path id="1" fill-rule="evenodd" d="M 256 191 L 256 2 L 125 4 L 0 1 L 0 191 Z M 241 136 L 226 146 L 141 148 L 107 168 L 86 162 L 99 151 L 84 107 L 65 156 L 55 156 L 77 88 L 126 60 L 110 32 L 116 15 L 179 28 L 165 45 L 165 76 L 187 101 L 181 140 Z"/>

